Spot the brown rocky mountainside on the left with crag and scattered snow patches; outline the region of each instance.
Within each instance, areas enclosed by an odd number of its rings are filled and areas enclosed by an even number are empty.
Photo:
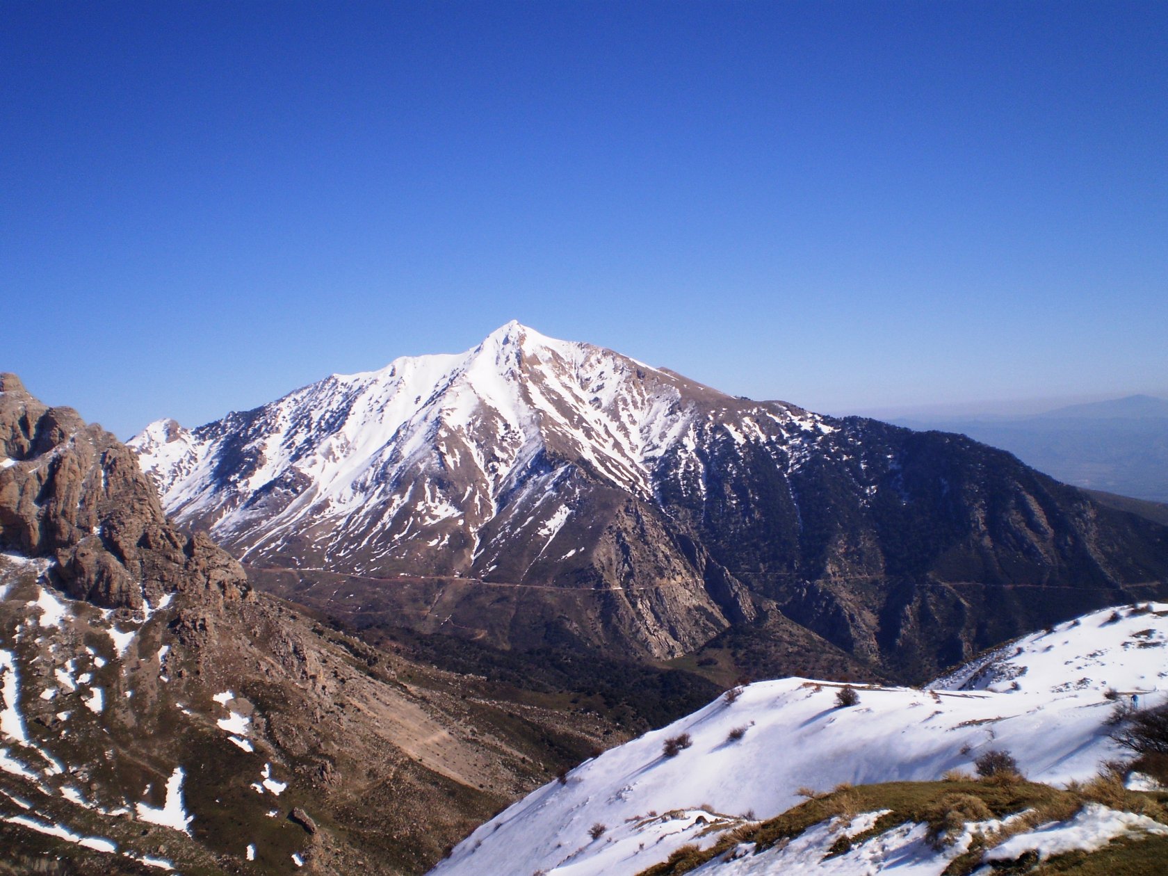
[[[0,378],[0,872],[418,872],[547,739],[624,738],[473,689],[251,590],[131,451]]]

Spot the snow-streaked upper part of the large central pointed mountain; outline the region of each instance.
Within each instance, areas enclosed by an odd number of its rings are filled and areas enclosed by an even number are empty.
[[[696,385],[512,321],[466,353],[334,374],[193,431],[160,420],[131,445],[168,512],[248,556],[308,529],[322,565],[360,554],[353,569],[370,571],[437,540],[464,548],[445,569],[460,572],[517,494],[544,506],[537,529],[563,521],[550,459],[651,499],[655,460],[696,416],[683,395]]]

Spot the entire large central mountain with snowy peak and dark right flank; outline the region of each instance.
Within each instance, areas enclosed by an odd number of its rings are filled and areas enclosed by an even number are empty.
[[[923,679],[1168,579],[1168,529],[1002,451],[517,324],[132,444],[260,585],[502,646],[668,658],[786,616]]]

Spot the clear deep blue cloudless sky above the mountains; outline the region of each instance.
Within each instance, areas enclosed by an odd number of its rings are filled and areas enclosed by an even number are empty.
[[[123,437],[509,319],[829,412],[1168,395],[1168,4],[0,5],[0,369]]]

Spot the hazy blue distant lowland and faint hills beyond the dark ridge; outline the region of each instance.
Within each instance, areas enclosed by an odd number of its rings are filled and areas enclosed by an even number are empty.
[[[902,417],[1008,450],[1078,487],[1168,502],[1168,401],[1136,395],[1026,417]]]

